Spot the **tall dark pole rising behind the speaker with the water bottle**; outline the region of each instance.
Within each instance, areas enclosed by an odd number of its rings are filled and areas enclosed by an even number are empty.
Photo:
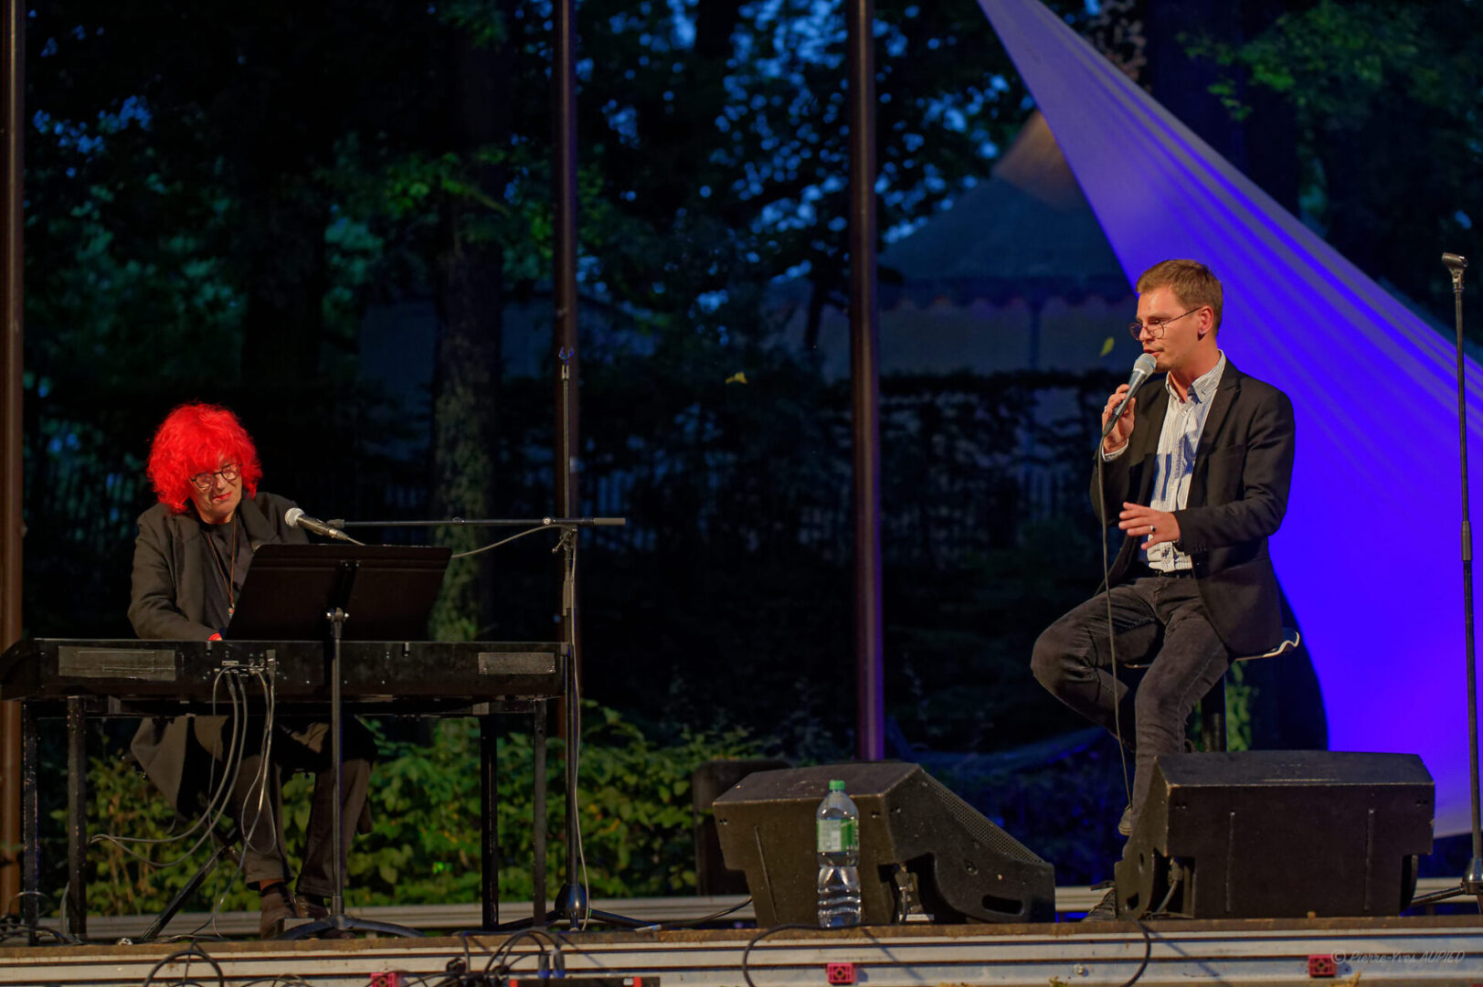
[[[875,300],[875,3],[850,0],[850,378],[854,407],[856,757],[885,755],[881,672],[881,381]]]

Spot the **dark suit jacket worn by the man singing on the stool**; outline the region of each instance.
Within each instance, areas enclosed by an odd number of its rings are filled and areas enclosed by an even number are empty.
[[[1137,390],[1129,448],[1103,465],[1105,506],[1091,505],[1111,527],[1123,502],[1146,505],[1154,491],[1154,459],[1169,407],[1164,378]],[[1283,614],[1266,539],[1287,511],[1295,426],[1292,402],[1277,387],[1247,377],[1229,359],[1195,448],[1189,499],[1179,521],[1176,548],[1194,561],[1210,623],[1232,655],[1261,655],[1281,640]],[[1108,576],[1124,582],[1146,537],[1123,542]]]

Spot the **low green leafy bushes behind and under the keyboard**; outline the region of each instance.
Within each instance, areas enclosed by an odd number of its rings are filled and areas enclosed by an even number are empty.
[[[581,842],[592,896],[679,895],[696,888],[690,776],[707,760],[753,757],[759,744],[739,730],[719,736],[684,733],[657,744],[612,709],[587,704],[580,766]],[[374,831],[350,855],[347,904],[449,904],[478,901],[479,724],[437,720],[427,744],[399,739],[371,723],[381,760],[372,772]],[[564,770],[561,741],[549,745],[547,898],[565,873],[562,839]],[[500,896],[529,899],[531,775],[534,751],[525,733],[498,741],[497,778]],[[162,839],[172,813],[128,754],[93,757],[89,770],[89,831]],[[289,861],[303,855],[310,779],[297,775],[283,787]],[[62,812],[52,818],[64,822]],[[176,831],[182,827],[176,824]],[[55,843],[55,842],[53,842]],[[184,846],[188,846],[185,842]],[[157,861],[184,846],[153,847]],[[135,847],[138,849],[138,847]],[[156,868],[110,842],[89,850],[87,902],[93,914],[157,911],[206,859],[206,849],[179,867]],[[56,855],[59,856],[59,855]],[[53,856],[55,858],[55,856]],[[219,902],[218,902],[219,899]],[[257,908],[257,893],[230,865],[218,867],[191,910]]]

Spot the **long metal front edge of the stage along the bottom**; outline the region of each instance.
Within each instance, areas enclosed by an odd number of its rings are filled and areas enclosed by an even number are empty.
[[[562,934],[565,975],[657,977],[663,986],[737,987],[756,929]],[[509,937],[469,937],[482,969]],[[196,956],[156,966],[185,944],[0,948],[0,984],[218,983]],[[466,954],[466,940],[200,942],[224,984],[248,981],[363,986],[400,971],[403,984],[437,984]],[[512,944],[513,974],[538,977],[541,944]],[[550,951],[550,947],[544,947]],[[1146,957],[1146,963],[1145,963]],[[1332,971],[1314,977],[1318,969]],[[1327,960],[1332,966],[1324,968]],[[1483,984],[1479,916],[1385,919],[1247,919],[1054,925],[906,925],[779,929],[761,940],[746,972],[756,987],[826,984],[828,963],[853,963],[851,983],[872,987],[1035,984]],[[292,978],[298,978],[297,981]],[[421,981],[417,978],[423,978]]]

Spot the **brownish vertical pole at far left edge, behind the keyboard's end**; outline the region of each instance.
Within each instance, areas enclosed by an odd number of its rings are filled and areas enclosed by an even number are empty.
[[[4,205],[0,220],[0,649],[21,638],[21,175],[25,132],[25,4],[4,0],[0,24]],[[0,702],[0,913],[21,892],[21,704]]]

